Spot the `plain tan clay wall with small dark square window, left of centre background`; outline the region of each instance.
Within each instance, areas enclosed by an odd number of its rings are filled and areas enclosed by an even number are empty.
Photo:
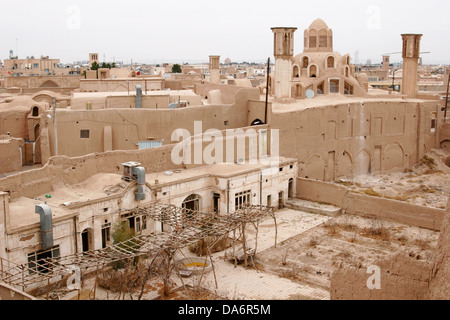
[[[202,122],[203,132],[207,129],[234,129],[246,127],[254,119],[248,118],[249,96],[251,92],[242,90],[236,95],[232,105],[192,106],[179,109],[107,109],[107,110],[57,110],[58,154],[80,156],[109,150],[136,150],[139,141],[159,140],[163,145],[172,143],[172,133],[176,129],[186,129],[194,134],[194,122]],[[264,113],[264,105],[252,103],[251,114]],[[260,110],[260,111],[258,111]],[[47,137],[41,137],[54,155],[53,120],[43,117],[41,128],[48,128]],[[105,136],[105,128],[111,128],[111,135]],[[89,137],[82,137],[81,130],[89,130]],[[109,129],[108,129],[109,130]],[[85,131],[86,132],[86,131]],[[41,133],[42,134],[42,133]],[[106,141],[107,140],[107,141]],[[106,143],[108,142],[108,143]]]

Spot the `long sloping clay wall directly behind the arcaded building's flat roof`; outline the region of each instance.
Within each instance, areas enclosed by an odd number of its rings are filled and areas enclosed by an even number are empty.
[[[248,136],[246,136],[250,129],[254,132],[256,138],[252,147],[250,146]],[[243,127],[238,130],[235,135],[232,135],[231,138],[227,138],[226,130],[218,131],[217,133],[220,133],[220,135],[224,137],[224,140],[218,139],[218,142],[220,142],[219,147],[214,144],[213,149],[215,152],[219,152],[219,149],[223,148],[223,161],[227,161],[230,159],[226,154],[226,151],[228,151],[227,141],[231,141],[234,151],[232,158],[233,162],[240,157],[245,160],[254,158],[255,155],[259,154],[260,148],[258,130],[267,130],[267,134],[270,137],[270,130],[268,130],[267,125]],[[186,148],[189,150],[186,153],[184,153],[184,151],[181,152],[180,150],[183,148],[180,148],[180,145],[175,143],[158,148],[90,153],[88,155],[71,158],[67,156],[50,157],[48,162],[42,168],[27,170],[0,179],[0,191],[9,192],[12,199],[19,197],[34,198],[53,191],[61,184],[77,184],[97,173],[121,173],[122,168],[120,164],[128,161],[141,163],[148,173],[207,165],[209,164],[207,163],[208,159],[204,155],[209,155],[211,153],[210,149],[212,143],[211,139],[207,139],[208,136],[209,135],[206,133],[197,136],[200,137],[200,141],[202,141],[200,143],[200,150],[196,150],[197,142],[195,139],[186,139],[186,146],[190,144],[190,147]],[[243,152],[239,153],[237,151],[237,141],[239,141],[241,137],[244,137],[246,140],[242,149]],[[177,146],[177,150],[174,150]],[[174,162],[174,159],[172,158],[173,150],[175,157],[182,159],[182,163]],[[197,152],[199,152],[197,157],[197,159],[200,159],[199,163],[196,163],[195,161]]]

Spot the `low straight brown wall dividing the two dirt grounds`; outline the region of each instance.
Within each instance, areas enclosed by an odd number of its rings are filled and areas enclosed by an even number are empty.
[[[304,178],[297,178],[296,191],[297,197],[301,199],[329,203],[349,214],[385,219],[430,230],[439,231],[445,213],[442,209],[353,193],[343,186]]]

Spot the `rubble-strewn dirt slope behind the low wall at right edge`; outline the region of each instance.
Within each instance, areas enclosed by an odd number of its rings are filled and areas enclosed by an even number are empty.
[[[404,172],[340,179],[352,192],[445,209],[450,195],[450,153],[435,150]]]

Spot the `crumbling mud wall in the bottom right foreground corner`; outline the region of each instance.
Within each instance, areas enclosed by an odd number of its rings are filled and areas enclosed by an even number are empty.
[[[365,267],[340,266],[331,276],[332,300],[448,300],[450,297],[450,200],[431,260],[411,252],[375,262],[380,287],[369,289]]]

